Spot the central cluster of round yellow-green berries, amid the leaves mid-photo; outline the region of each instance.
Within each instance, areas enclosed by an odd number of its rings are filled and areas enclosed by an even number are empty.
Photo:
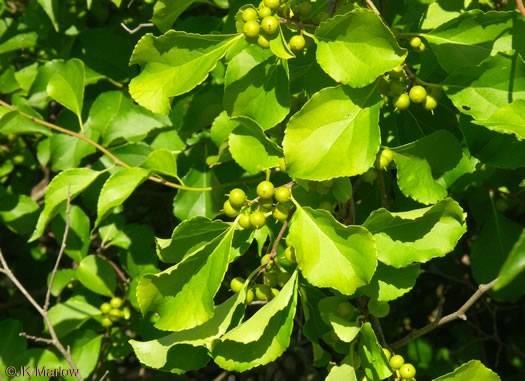
[[[273,216],[277,221],[284,221],[288,218],[289,207],[288,201],[291,198],[289,188],[275,186],[270,181],[261,181],[257,185],[257,195],[259,196],[259,207],[257,210],[244,211],[248,207],[248,198],[246,193],[240,189],[233,189],[229,195],[228,200],[224,202],[223,211],[228,217],[237,217],[239,214],[239,225],[244,229],[254,228],[260,229],[266,224],[266,217]],[[277,204],[274,204],[274,199]]]

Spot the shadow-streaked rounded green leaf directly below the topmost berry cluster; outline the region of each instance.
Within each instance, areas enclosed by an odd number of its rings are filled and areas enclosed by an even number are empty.
[[[286,61],[249,45],[228,63],[224,108],[230,116],[248,117],[267,130],[290,112],[288,82]]]

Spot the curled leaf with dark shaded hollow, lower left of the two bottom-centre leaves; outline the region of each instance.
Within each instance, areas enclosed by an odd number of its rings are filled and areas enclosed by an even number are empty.
[[[213,317],[201,326],[150,341],[130,340],[130,344],[139,361],[151,368],[178,374],[201,368],[209,361],[206,348],[211,342],[226,333],[230,325],[239,323],[245,299],[243,289],[215,307]]]

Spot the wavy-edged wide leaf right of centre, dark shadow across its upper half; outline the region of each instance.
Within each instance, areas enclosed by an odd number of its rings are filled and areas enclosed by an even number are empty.
[[[363,226],[374,235],[377,258],[395,268],[445,256],[467,231],[465,213],[452,199],[407,212],[381,208]]]

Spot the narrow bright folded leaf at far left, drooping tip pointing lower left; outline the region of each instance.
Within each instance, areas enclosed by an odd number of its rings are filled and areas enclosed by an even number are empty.
[[[45,206],[35,231],[29,239],[32,242],[44,234],[44,229],[49,221],[65,206],[67,201],[68,189],[70,199],[73,200],[84,189],[86,189],[102,172],[97,172],[89,168],[73,168],[64,171],[51,180],[45,196]]]

